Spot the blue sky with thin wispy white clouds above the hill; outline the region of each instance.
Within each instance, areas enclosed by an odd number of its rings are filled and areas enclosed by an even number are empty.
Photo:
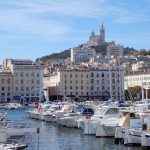
[[[76,47],[102,21],[106,42],[150,49],[150,0],[0,0],[0,64]]]

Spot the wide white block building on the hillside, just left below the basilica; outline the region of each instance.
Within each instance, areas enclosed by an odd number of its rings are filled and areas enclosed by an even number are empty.
[[[88,62],[92,57],[96,56],[96,51],[93,48],[72,48],[71,61],[72,62]]]

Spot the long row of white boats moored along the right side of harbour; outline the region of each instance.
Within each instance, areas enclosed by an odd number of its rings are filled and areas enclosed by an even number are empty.
[[[118,107],[115,102],[45,102],[27,111],[28,116],[81,128],[85,135],[114,137],[116,144],[150,148],[149,100]]]

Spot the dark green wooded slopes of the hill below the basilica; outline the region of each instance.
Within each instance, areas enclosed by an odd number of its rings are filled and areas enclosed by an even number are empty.
[[[79,47],[82,47],[83,45],[79,45]],[[107,48],[107,44],[103,45],[103,46],[91,46],[91,48],[94,48],[96,50],[96,53],[100,53],[102,55],[106,55],[106,48]],[[53,54],[50,54],[50,55],[46,55],[46,56],[43,56],[41,58],[37,58],[36,59],[36,62],[37,61],[47,61],[49,59],[66,59],[66,58],[69,58],[71,57],[71,54],[70,54],[70,50],[71,48],[67,49],[67,50],[64,50],[60,53],[53,53]],[[130,54],[133,54],[135,52],[138,52],[136,49],[134,48],[129,48],[129,47],[125,47],[124,48],[124,54],[125,55],[130,55]]]

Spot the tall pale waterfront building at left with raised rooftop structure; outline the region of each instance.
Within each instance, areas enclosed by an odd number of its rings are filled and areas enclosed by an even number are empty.
[[[38,100],[43,89],[43,66],[32,60],[6,59],[4,67],[12,73],[13,99]]]

